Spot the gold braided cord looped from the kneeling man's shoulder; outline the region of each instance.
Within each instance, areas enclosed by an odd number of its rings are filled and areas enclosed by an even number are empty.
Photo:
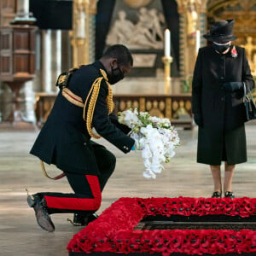
[[[92,125],[91,124],[92,124],[94,110],[95,110],[95,107],[96,107],[96,100],[98,98],[100,88],[101,88],[102,79],[105,79],[106,83],[108,84],[108,96],[107,96],[107,99],[106,99],[107,107],[108,107],[108,113],[113,112],[113,92],[112,92],[112,88],[111,88],[111,85],[108,83],[108,77],[107,77],[107,74],[105,73],[105,71],[102,70],[102,69],[100,69],[100,71],[102,73],[102,77],[97,78],[94,81],[94,83],[91,85],[89,94],[88,94],[88,96],[86,98],[86,101],[84,103],[84,113],[83,113],[84,121],[86,121],[87,131],[88,131],[90,137],[94,137],[96,139],[99,139],[101,136],[96,135],[92,131],[92,128],[91,128]],[[87,106],[87,104],[88,104],[88,109],[87,109],[87,115],[86,115],[86,106]]]

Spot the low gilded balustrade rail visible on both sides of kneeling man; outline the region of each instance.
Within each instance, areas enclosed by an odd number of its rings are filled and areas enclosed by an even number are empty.
[[[192,112],[190,97],[189,94],[176,96],[115,95],[113,96],[115,105],[114,113],[119,113],[119,111],[124,111],[129,108],[138,108],[139,111],[149,111],[152,115],[166,117],[171,119],[172,122],[175,121],[175,125],[177,126],[191,129],[193,123],[191,119]],[[55,95],[45,93],[37,94],[36,116],[39,127],[44,125],[54,102]],[[174,104],[172,104],[172,102]],[[148,109],[146,109],[147,105]]]

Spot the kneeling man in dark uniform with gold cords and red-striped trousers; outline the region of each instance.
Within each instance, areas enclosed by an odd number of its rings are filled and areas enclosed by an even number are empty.
[[[61,74],[60,92],[54,107],[34,143],[31,154],[54,164],[66,175],[74,194],[41,192],[29,195],[38,224],[52,232],[49,214],[74,212],[74,222],[87,224],[101,206],[102,189],[115,167],[115,156],[91,137],[103,137],[124,153],[134,140],[130,129],[113,115],[110,84],[124,79],[133,65],[130,51],[121,44],[111,46],[99,61]]]

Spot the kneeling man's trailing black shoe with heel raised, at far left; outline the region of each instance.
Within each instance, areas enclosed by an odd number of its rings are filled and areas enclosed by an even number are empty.
[[[45,199],[41,199],[39,195],[28,195],[26,201],[30,207],[34,208],[38,225],[48,232],[55,230],[55,225],[49,217]]]

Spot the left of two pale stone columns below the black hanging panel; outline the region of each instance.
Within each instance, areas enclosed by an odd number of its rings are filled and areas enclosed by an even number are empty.
[[[51,31],[42,31],[42,90],[44,92],[52,92],[52,79],[51,79]]]

